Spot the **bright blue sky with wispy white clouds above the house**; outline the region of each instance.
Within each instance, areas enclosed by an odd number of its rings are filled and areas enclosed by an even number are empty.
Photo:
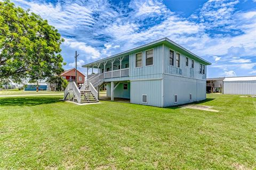
[[[207,78],[256,75],[256,0],[12,0],[59,30],[64,69],[167,37],[212,63]]]

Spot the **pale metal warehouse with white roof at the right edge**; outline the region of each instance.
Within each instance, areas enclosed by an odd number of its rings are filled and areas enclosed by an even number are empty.
[[[256,95],[256,76],[225,78],[223,94]]]

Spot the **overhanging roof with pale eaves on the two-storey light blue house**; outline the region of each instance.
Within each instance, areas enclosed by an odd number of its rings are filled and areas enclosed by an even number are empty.
[[[179,50],[181,50],[183,53],[185,53],[186,55],[190,56],[191,58],[194,58],[195,60],[198,60],[200,61],[201,63],[205,64],[205,65],[211,65],[210,62],[204,60],[203,58],[197,56],[196,54],[190,52],[189,50],[187,50],[186,48],[178,45],[177,43],[175,43],[174,41],[170,40],[169,38],[162,38],[162,39],[159,39],[159,40],[156,40],[156,41],[153,41],[151,43],[148,43],[148,44],[145,44],[145,45],[142,45],[142,46],[139,46],[139,47],[136,47],[136,48],[132,48],[130,50],[126,50],[125,52],[122,52],[122,53],[118,53],[118,54],[115,54],[115,55],[112,55],[112,56],[109,56],[109,57],[106,57],[106,58],[102,58],[101,60],[98,60],[98,61],[95,61],[95,62],[92,62],[92,63],[89,63],[89,64],[85,64],[83,65],[83,67],[91,67],[93,64],[97,64],[97,63],[101,63],[101,62],[104,62],[104,61],[108,61],[110,60],[111,58],[115,58],[115,57],[118,57],[118,56],[125,56],[125,55],[129,55],[130,53],[133,53],[133,52],[136,52],[137,50],[141,50],[143,48],[149,48],[151,46],[155,46],[155,45],[158,45],[158,44],[166,44],[166,45],[170,45],[170,46],[175,46],[177,47]],[[94,66],[93,66],[94,67]]]

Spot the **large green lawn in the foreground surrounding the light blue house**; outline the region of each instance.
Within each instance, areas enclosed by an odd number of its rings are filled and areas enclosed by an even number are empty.
[[[256,168],[256,98],[207,95],[217,113],[61,97],[0,98],[0,169]]]

